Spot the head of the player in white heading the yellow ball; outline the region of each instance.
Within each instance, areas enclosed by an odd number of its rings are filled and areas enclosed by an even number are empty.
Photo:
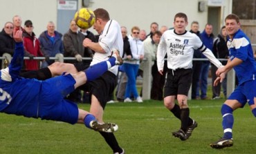
[[[104,26],[107,21],[109,21],[109,12],[104,10],[103,8],[97,8],[93,11],[95,15],[95,23],[93,24],[93,28],[100,34],[104,30]]]

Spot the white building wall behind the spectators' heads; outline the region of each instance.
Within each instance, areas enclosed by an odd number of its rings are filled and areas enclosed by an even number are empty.
[[[78,8],[82,7],[82,0],[78,1]],[[190,30],[191,21],[199,21],[200,30],[207,23],[207,6],[204,12],[198,11],[199,0],[90,0],[89,8],[105,8],[109,11],[111,19],[115,19],[121,26],[127,26],[130,31],[132,26],[139,26],[149,33],[150,23],[156,21],[159,27],[173,26],[174,15],[184,12],[188,15]],[[205,1],[206,4],[208,1]],[[221,13],[226,17],[232,9],[232,0],[223,0]],[[39,34],[46,30],[48,21],[57,22],[57,0],[1,0],[0,1],[0,28],[6,21],[12,21],[14,15],[20,15],[24,21],[30,19],[35,26],[34,32]],[[223,22],[223,21],[221,21]],[[56,23],[57,24],[57,23]],[[94,33],[95,31],[92,30]]]

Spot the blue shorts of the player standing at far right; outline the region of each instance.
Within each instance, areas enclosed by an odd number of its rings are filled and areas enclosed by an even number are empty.
[[[242,104],[242,107],[248,102],[249,106],[254,104],[256,97],[256,80],[246,81],[245,83],[237,86],[234,92],[231,93],[228,99],[235,99]]]

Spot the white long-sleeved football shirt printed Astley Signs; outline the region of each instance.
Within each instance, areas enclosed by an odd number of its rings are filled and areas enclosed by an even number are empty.
[[[194,33],[185,31],[179,35],[172,30],[166,30],[158,44],[156,53],[158,70],[163,70],[164,58],[167,54],[167,68],[176,70],[179,68],[192,68],[194,50],[199,49],[203,55],[219,68],[221,62],[217,60],[212,51],[206,48],[201,39]]]

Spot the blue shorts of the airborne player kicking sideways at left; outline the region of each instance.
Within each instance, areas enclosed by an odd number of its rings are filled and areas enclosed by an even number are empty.
[[[42,81],[39,93],[39,117],[70,124],[77,123],[77,104],[64,99],[74,90],[74,84],[75,79],[71,75],[62,75]]]

